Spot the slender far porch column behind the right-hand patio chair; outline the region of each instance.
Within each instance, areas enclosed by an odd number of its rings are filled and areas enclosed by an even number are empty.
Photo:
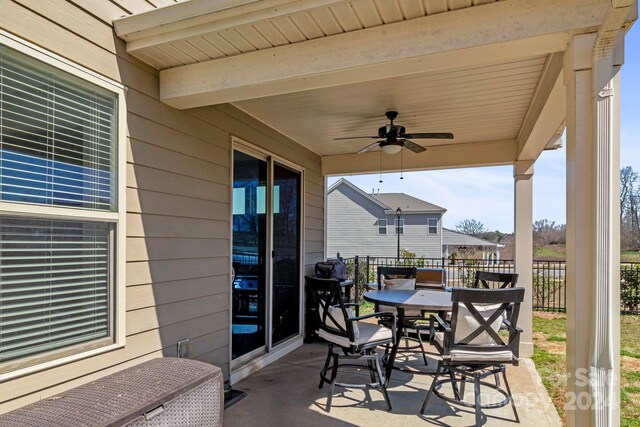
[[[525,288],[518,325],[520,356],[533,356],[533,160],[518,160],[513,165],[514,189],[514,261],[518,286]]]

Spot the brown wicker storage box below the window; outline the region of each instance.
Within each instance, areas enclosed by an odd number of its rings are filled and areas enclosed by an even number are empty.
[[[0,415],[0,426],[221,426],[222,371],[160,358]]]

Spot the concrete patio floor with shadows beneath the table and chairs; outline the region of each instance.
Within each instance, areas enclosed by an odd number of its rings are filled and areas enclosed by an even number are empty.
[[[336,388],[331,412],[325,404],[328,387],[318,389],[319,371],[326,357],[326,344],[305,344],[279,361],[233,384],[247,396],[225,411],[224,425],[234,426],[467,426],[474,424],[472,408],[450,405],[433,396],[424,416],[420,407],[433,379],[432,375],[394,371],[388,388],[393,410],[388,412],[377,390]],[[415,353],[399,355],[401,363],[434,372],[437,356],[431,354],[425,367]],[[349,372],[342,377],[366,375]],[[544,427],[561,425],[560,418],[542,385],[533,362],[525,359],[518,367],[507,369],[507,378],[514,395],[520,425]],[[340,377],[339,377],[340,380]],[[491,381],[491,380],[489,380]],[[355,382],[355,381],[354,381]],[[468,386],[466,400],[473,399],[473,387]],[[483,388],[483,396],[491,397]],[[483,424],[513,426],[511,406],[483,411]]]

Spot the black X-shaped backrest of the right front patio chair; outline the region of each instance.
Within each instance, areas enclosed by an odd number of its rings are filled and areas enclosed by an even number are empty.
[[[520,304],[524,300],[524,288],[511,289],[469,289],[453,288],[451,291],[451,301],[453,309],[451,312],[451,332],[450,336],[445,336],[443,340],[444,352],[448,354],[452,350],[465,350],[477,352],[496,352],[510,350],[516,358],[519,354],[520,334],[518,332],[518,316],[520,314]],[[459,313],[461,306],[466,308],[468,314],[477,322],[478,326],[470,333],[461,336]],[[489,310],[487,310],[489,306]],[[480,314],[478,309],[489,311],[486,317]],[[467,314],[467,313],[465,313]],[[509,339],[505,343],[498,334],[499,328],[492,327],[492,324],[500,319],[500,325],[507,325]],[[488,334],[491,343],[471,344],[476,338],[483,334]],[[486,335],[485,335],[486,336]]]

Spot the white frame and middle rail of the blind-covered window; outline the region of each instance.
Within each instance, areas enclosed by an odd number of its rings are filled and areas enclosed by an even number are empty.
[[[113,252],[110,255],[113,262],[113,279],[110,283],[112,302],[109,306],[109,315],[112,316],[112,319],[110,319],[110,336],[1,363],[0,382],[3,382],[92,357],[97,354],[113,351],[125,345],[127,104],[125,96],[126,87],[121,83],[106,78],[88,68],[49,52],[26,40],[22,40],[1,29],[0,44],[27,55],[34,60],[43,62],[60,71],[62,74],[70,74],[86,83],[106,89],[116,96],[116,141],[114,153],[114,165],[116,167],[114,176],[116,184],[114,188],[117,191],[115,211],[96,211],[75,207],[37,205],[0,200],[0,216],[97,221],[112,224],[112,227],[115,228],[115,231],[112,232]]]

